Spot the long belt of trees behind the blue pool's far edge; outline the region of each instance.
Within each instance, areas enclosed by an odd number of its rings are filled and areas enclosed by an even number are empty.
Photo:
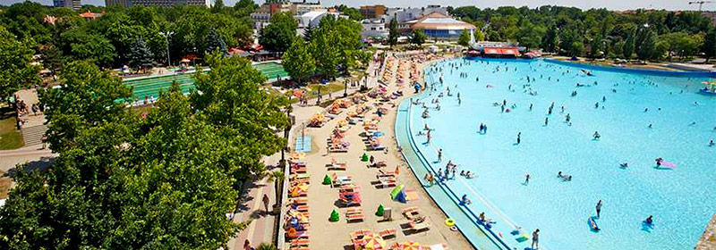
[[[447,11],[473,23],[487,40],[519,42],[547,52],[641,60],[716,55],[716,31],[699,12],[582,11],[559,6],[482,10],[465,6]]]

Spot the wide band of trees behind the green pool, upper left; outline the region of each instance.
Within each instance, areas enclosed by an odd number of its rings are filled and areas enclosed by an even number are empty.
[[[201,56],[210,52],[210,44],[250,44],[249,14],[256,7],[251,0],[239,1],[234,7],[219,1],[211,9],[188,5],[87,7],[104,11],[105,15],[97,20],[84,20],[79,16],[84,9],[72,11],[24,2],[3,7],[0,26],[17,39],[32,41],[32,48],[43,55],[44,66],[53,71],[74,60],[90,60],[104,68],[132,63],[136,68],[141,66],[136,62],[147,63],[147,59],[166,63],[167,42],[175,62],[186,54]],[[46,21],[46,16],[55,17],[54,24]],[[218,36],[210,36],[211,32]],[[136,50],[151,54],[136,58]]]

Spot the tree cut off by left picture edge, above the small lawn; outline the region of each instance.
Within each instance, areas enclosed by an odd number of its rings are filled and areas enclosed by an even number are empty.
[[[0,101],[21,87],[39,83],[39,68],[30,64],[35,54],[30,45],[0,26]]]

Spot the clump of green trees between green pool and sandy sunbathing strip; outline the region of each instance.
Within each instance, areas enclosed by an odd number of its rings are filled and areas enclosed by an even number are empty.
[[[271,17],[271,24],[266,29],[274,25],[276,28],[271,29],[289,26],[283,23],[290,22],[287,18],[274,22],[276,16],[280,14]],[[314,74],[334,79],[341,73],[348,74],[348,69],[357,66],[357,63],[367,65],[371,60],[371,52],[359,49],[362,46],[361,30],[361,25],[356,21],[327,15],[317,27],[307,29],[303,38],[292,33],[293,36],[286,41],[289,47],[282,58],[286,72],[293,79],[303,82]],[[267,39],[267,33],[262,35],[261,39]]]

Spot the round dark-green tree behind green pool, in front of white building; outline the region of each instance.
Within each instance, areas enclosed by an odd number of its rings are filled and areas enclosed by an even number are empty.
[[[261,29],[259,43],[269,50],[285,52],[296,37],[298,23],[290,12],[276,12],[271,15],[271,23]]]

